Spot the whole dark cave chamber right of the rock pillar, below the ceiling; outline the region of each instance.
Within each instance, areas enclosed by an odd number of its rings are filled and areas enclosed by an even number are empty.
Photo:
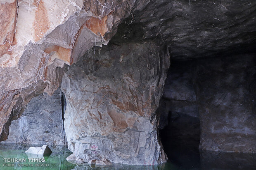
[[[234,166],[228,169],[237,169],[236,163],[255,166],[252,158],[239,160],[246,154],[221,156],[254,153],[255,59],[247,53],[171,62],[158,109],[169,161],[185,169],[229,161]],[[218,156],[225,161],[217,163]]]

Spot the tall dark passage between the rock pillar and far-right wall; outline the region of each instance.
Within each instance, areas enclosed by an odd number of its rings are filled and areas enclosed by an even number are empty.
[[[193,74],[187,68],[184,62],[171,62],[159,104],[159,133],[171,163],[183,168],[199,168],[200,120]]]

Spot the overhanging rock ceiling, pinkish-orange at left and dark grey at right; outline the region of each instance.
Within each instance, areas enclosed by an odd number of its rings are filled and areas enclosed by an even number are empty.
[[[13,114],[21,115],[34,96],[52,95],[67,65],[106,45],[128,16],[119,41],[159,39],[175,60],[255,47],[256,1],[189,2],[0,0],[0,140],[7,139]]]

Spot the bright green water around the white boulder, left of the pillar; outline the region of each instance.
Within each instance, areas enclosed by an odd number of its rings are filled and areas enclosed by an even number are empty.
[[[33,146],[36,147],[40,145]],[[45,162],[31,162],[33,161],[31,158],[36,158],[36,156],[27,155],[25,153],[29,147],[31,146],[0,144],[0,170],[71,170],[76,166],[66,161],[66,157],[71,154],[67,148],[62,146],[49,146],[52,150],[52,154],[42,157],[45,159]],[[7,162],[6,158],[20,158],[21,161],[25,159],[26,162]]]

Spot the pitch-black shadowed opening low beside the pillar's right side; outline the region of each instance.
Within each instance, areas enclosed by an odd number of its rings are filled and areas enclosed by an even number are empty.
[[[168,125],[160,130],[161,142],[169,161],[180,168],[199,168],[199,119],[189,115],[168,116]]]

